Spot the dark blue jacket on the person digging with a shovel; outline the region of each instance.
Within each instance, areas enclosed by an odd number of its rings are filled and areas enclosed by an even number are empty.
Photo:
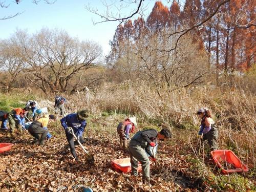
[[[69,126],[73,128],[74,134],[81,137],[86,127],[86,120],[78,120],[77,114],[72,113],[60,119],[61,125],[66,130]]]

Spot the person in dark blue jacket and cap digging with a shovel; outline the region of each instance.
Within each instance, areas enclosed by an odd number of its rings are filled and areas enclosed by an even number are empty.
[[[66,137],[69,142],[70,151],[73,157],[78,161],[78,157],[75,151],[75,145],[78,144],[77,141],[74,141],[74,136],[72,134],[72,130],[77,137],[77,140],[80,143],[84,143],[82,138],[82,134],[84,128],[87,125],[86,118],[88,117],[88,110],[80,110],[77,113],[72,113],[60,119],[62,127],[65,129]]]

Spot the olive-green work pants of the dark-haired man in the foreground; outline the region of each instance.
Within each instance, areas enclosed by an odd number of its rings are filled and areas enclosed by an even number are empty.
[[[132,139],[129,144],[131,164],[132,164],[132,175],[138,175],[138,161],[142,165],[142,180],[150,180],[150,159],[148,159],[145,149],[138,143],[138,141]]]

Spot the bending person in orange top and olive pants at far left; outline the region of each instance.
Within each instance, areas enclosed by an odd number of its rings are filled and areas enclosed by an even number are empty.
[[[25,129],[25,116],[27,115],[29,108],[16,108],[8,113],[8,121],[10,125],[10,134],[14,135],[14,128],[18,129],[19,134],[22,134],[23,128]]]

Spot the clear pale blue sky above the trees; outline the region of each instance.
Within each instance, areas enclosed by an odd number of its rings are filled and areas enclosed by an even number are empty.
[[[119,0],[118,0],[119,1]],[[3,1],[1,1],[3,2]],[[48,5],[41,0],[38,5],[31,3],[31,0],[23,0],[19,5],[14,0],[6,0],[10,4],[6,8],[0,8],[0,18],[17,12],[22,14],[7,20],[0,20],[0,38],[8,38],[16,29],[27,29],[29,33],[39,31],[43,27],[59,28],[66,30],[71,36],[81,40],[93,40],[102,46],[103,53],[110,51],[109,41],[113,38],[118,22],[106,22],[93,25],[93,20],[100,20],[100,17],[90,13],[85,7],[98,9],[103,13],[106,8],[102,1],[85,0],[57,0],[53,5]],[[111,4],[110,0],[106,0]],[[154,7],[155,1],[145,1],[144,13],[147,15]],[[163,1],[166,5],[166,2]],[[118,6],[115,4],[114,6]],[[128,7],[123,13],[129,14],[135,7]],[[112,9],[115,11],[114,7]],[[136,15],[137,18],[139,15]]]

